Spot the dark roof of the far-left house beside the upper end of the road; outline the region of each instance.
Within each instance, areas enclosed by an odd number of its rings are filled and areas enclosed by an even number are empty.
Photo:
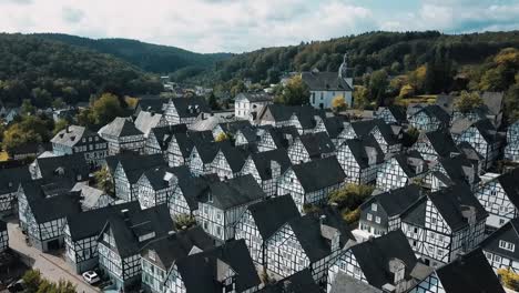
[[[67,192],[60,195],[29,201],[32,215],[39,224],[65,218],[81,212],[79,192]]]

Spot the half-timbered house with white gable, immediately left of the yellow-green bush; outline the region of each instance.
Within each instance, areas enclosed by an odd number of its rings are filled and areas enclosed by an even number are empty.
[[[314,160],[288,168],[279,178],[277,194],[291,194],[301,213],[307,204],[322,204],[328,194],[345,184],[346,175],[337,158]]]

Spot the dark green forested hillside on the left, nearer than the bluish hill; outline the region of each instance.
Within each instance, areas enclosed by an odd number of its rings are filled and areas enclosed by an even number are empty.
[[[91,94],[156,93],[157,78],[115,57],[31,36],[0,34],[0,99],[30,99],[48,107],[55,98],[89,101]]]

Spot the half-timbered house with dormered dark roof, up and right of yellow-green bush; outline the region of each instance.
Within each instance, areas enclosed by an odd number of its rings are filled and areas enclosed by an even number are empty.
[[[376,186],[381,191],[403,188],[423,180],[427,171],[427,163],[417,151],[398,153],[378,168]]]

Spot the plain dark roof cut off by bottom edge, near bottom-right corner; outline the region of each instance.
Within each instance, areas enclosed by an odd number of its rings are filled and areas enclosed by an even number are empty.
[[[447,293],[505,293],[480,249],[436,270]]]

